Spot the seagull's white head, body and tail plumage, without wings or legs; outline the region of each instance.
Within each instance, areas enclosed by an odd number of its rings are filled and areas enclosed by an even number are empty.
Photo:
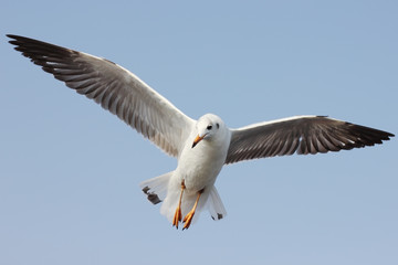
[[[196,131],[198,131],[198,128],[207,128],[210,124],[213,129],[218,130],[217,136],[211,137],[210,140],[201,141],[200,145],[192,148],[191,139],[197,137],[198,134]],[[221,118],[212,114],[202,116],[196,126],[197,128],[191,130],[192,134],[188,136],[187,142],[184,145],[184,149],[177,158],[178,163],[176,170],[166,176],[160,176],[160,183],[167,183],[168,191],[167,197],[159,198],[159,200],[164,200],[160,212],[166,215],[170,222],[174,218],[174,210],[178,204],[182,182],[185,184],[181,205],[182,215],[186,215],[188,210],[193,206],[199,191],[203,192],[197,212],[200,212],[199,210],[206,205],[208,197],[213,194],[211,200],[213,203],[209,203],[209,206],[214,209],[212,218],[214,220],[221,219],[227,214],[218,197],[214,182],[226,162],[231,131],[226,127]],[[202,135],[205,134],[206,131],[202,132]],[[165,178],[169,178],[169,180],[165,181]],[[147,192],[158,194],[158,190],[153,188],[158,187],[159,182],[156,180],[157,178],[143,182],[143,189],[149,188]],[[153,181],[155,181],[155,183]],[[165,189],[165,187],[160,186],[158,189]],[[214,194],[217,195],[214,197]],[[198,218],[198,215],[196,218]]]

